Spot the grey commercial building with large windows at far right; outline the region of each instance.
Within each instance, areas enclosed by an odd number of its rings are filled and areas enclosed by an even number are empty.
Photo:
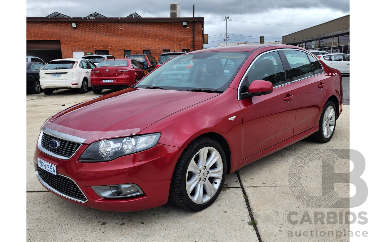
[[[350,54],[350,15],[282,36],[282,44]]]

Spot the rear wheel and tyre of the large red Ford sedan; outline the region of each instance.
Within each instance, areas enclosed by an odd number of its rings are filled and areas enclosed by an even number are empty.
[[[332,101],[327,101],[321,113],[319,129],[310,136],[311,140],[326,143],[333,137],[337,123],[337,109]]]

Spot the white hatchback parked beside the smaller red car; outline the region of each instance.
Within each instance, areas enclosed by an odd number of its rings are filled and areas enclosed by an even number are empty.
[[[59,89],[79,89],[88,92],[91,69],[97,66],[86,59],[52,60],[39,71],[39,82],[44,94]]]

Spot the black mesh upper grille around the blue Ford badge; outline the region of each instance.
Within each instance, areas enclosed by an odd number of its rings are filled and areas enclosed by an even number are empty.
[[[58,147],[58,149],[52,149],[50,147],[49,143],[52,139],[59,141],[60,146]],[[74,143],[71,141],[63,140],[61,138],[56,138],[46,133],[43,133],[42,135],[41,145],[43,146],[44,149],[56,155],[60,155],[60,156],[68,157],[68,158],[71,157],[74,154],[74,152],[76,152],[76,150],[80,147],[79,143]]]

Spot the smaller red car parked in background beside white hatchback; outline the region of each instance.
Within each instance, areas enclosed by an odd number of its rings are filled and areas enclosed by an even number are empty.
[[[103,60],[91,70],[91,90],[98,94],[103,89],[124,89],[137,83],[149,72],[133,59]]]

